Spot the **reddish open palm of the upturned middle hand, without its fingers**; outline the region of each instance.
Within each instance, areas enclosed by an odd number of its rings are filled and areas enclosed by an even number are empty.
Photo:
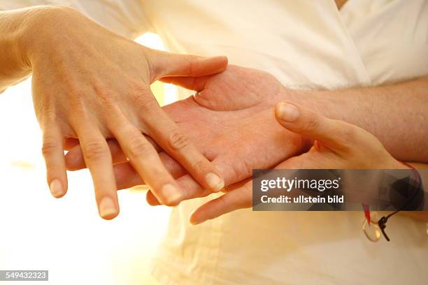
[[[269,168],[299,150],[300,138],[281,128],[272,107],[283,86],[268,73],[229,66],[208,78],[195,97],[164,107],[197,147],[220,162],[227,183]]]

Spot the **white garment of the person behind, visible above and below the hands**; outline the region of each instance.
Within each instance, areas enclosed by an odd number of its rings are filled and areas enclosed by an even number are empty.
[[[0,8],[40,2],[0,0]],[[428,73],[423,0],[349,0],[340,12],[332,0],[64,2],[125,36],[154,31],[173,52],[224,54],[294,88],[378,85]],[[240,210],[191,226],[190,212],[206,200],[173,210],[154,262],[162,284],[427,283],[425,224],[394,217],[392,242],[377,244],[362,233],[362,212]]]

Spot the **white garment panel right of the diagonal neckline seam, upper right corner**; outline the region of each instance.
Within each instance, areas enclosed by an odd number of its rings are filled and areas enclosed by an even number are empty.
[[[427,1],[349,1],[341,15],[373,83],[427,75]]]

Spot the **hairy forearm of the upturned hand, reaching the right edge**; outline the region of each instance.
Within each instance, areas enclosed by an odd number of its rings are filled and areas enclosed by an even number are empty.
[[[428,162],[428,78],[393,85],[298,92],[326,117],[373,133],[396,159]]]

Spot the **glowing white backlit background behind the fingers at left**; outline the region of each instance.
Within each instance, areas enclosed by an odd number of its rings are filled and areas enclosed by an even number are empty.
[[[164,50],[155,34],[136,41]],[[156,82],[152,89],[162,105],[177,98],[171,85]],[[0,95],[0,130],[0,270],[49,270],[50,281],[40,285],[156,284],[148,263],[166,230],[168,208],[148,206],[143,189],[124,190],[119,217],[104,221],[87,170],[69,173],[66,196],[52,198],[31,79]]]

